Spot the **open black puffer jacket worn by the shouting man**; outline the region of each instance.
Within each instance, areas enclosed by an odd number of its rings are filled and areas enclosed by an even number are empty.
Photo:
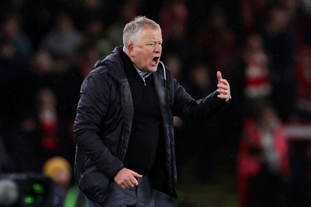
[[[75,179],[80,190],[102,204],[110,182],[123,167],[133,120],[133,101],[121,58],[122,47],[100,59],[81,86],[74,125],[77,143]],[[194,100],[161,65],[154,77],[162,114],[163,156],[154,173],[154,188],[176,197],[173,116],[201,121],[227,103],[216,92]]]

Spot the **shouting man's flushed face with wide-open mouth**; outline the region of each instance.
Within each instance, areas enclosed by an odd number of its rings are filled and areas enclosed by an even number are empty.
[[[162,35],[159,30],[145,27],[133,43],[131,60],[142,72],[155,72],[162,52]]]

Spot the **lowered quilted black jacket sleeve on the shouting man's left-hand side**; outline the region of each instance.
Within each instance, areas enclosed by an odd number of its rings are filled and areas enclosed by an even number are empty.
[[[122,162],[113,156],[99,137],[100,126],[109,108],[110,86],[107,73],[90,73],[81,85],[74,124],[74,139],[95,166],[113,179]]]

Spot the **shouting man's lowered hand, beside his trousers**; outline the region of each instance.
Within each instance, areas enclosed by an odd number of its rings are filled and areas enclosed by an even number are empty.
[[[138,181],[135,177],[143,177],[143,175],[135,173],[127,168],[120,170],[114,180],[122,189],[129,189],[138,185]]]

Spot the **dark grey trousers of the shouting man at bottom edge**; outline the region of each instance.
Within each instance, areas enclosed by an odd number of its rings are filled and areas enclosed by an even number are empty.
[[[154,207],[153,189],[148,176],[137,178],[138,186],[122,189],[115,182],[111,182],[104,205],[87,198],[89,207]]]

